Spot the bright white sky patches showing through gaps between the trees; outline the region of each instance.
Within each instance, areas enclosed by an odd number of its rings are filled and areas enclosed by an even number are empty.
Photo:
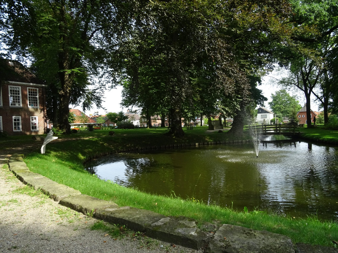
[[[258,86],[258,89],[262,90],[263,95],[268,99],[268,101],[265,102],[265,108],[270,110],[269,104],[268,102],[271,102],[271,94],[274,94],[277,90],[282,89],[282,87],[276,85],[276,84],[272,84],[271,80],[274,80],[275,78],[279,78],[279,73],[277,72],[272,72],[271,74],[265,76],[262,78],[262,85]],[[122,87],[121,86],[117,86],[115,89],[112,90],[106,90],[105,94],[104,94],[104,98],[103,98],[103,102],[102,102],[102,106],[106,109],[97,109],[95,106],[90,109],[87,110],[85,112],[86,115],[90,115],[90,114],[94,114],[94,112],[98,112],[99,115],[104,115],[107,112],[127,112],[128,108],[122,108],[122,106],[120,105],[121,103],[121,93],[122,93]],[[296,99],[299,101],[299,104],[303,107],[305,104],[305,97],[304,97],[304,93],[302,91],[290,91],[289,92],[290,95],[292,96],[296,96]],[[312,98],[314,96],[312,95]],[[78,109],[80,111],[82,111],[81,106],[77,106],[77,107],[73,107],[72,109]],[[314,100],[311,102],[311,109],[313,111],[318,111],[318,106],[317,103],[314,102]]]

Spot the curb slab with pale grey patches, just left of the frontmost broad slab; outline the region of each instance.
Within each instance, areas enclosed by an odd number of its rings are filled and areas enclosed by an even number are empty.
[[[211,234],[207,234],[197,228],[194,219],[183,216],[165,217],[151,224],[146,234],[168,243],[174,243],[196,250],[205,248],[211,239]]]

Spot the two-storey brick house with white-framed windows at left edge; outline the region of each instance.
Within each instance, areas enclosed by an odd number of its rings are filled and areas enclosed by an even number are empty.
[[[0,131],[45,134],[46,87],[18,61],[0,58]]]

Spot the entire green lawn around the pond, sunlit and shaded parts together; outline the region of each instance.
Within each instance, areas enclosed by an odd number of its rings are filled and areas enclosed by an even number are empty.
[[[114,129],[82,131],[69,136],[59,136],[46,146],[46,154],[40,154],[41,145],[30,148],[24,161],[33,172],[42,174],[53,181],[78,189],[83,194],[110,200],[119,206],[144,208],[164,215],[184,215],[196,219],[200,224],[234,224],[257,230],[267,230],[289,236],[294,243],[309,243],[334,246],[332,241],[338,239],[337,222],[318,221],[316,217],[300,219],[268,214],[262,211],[239,212],[231,208],[220,208],[196,202],[194,199],[181,199],[174,195],[158,196],[147,194],[137,189],[125,188],[109,181],[102,181],[89,174],[83,168],[83,161],[88,157],[107,152],[115,152],[128,148],[145,146],[161,146],[171,144],[188,144],[232,141],[233,136],[223,132],[207,131],[206,127],[185,130],[183,138],[165,136],[166,129]],[[338,132],[315,129],[301,129],[306,138],[335,141],[338,143]],[[326,133],[326,134],[325,134]],[[249,139],[245,134],[243,139]],[[0,139],[0,152],[10,143],[32,143],[31,136],[7,137]]]

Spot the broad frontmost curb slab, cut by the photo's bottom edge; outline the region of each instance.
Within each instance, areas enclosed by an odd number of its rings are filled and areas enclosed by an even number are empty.
[[[295,253],[289,237],[267,231],[223,224],[206,253]]]

